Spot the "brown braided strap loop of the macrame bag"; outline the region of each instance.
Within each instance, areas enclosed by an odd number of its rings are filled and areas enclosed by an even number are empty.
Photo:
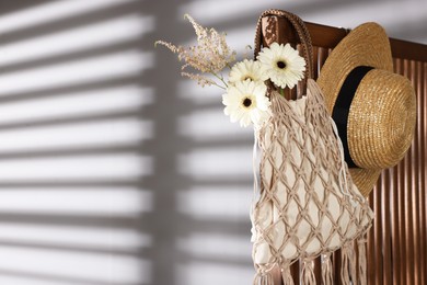
[[[311,44],[311,37],[310,32],[307,29],[304,22],[296,14],[292,14],[290,12],[278,10],[278,9],[270,9],[264,11],[256,24],[256,31],[255,31],[255,58],[261,52],[262,43],[263,43],[263,32],[262,32],[262,21],[263,18],[269,16],[269,15],[276,15],[276,16],[282,16],[286,18],[292,25],[292,27],[297,31],[298,37],[301,41],[301,46],[303,50],[303,57],[305,59],[307,64],[307,70],[305,76],[308,78],[313,78],[314,70],[313,70],[313,46]]]

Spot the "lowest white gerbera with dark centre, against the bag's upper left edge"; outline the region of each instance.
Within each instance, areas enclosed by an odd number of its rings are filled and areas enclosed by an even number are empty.
[[[259,127],[269,116],[270,102],[265,95],[267,87],[262,81],[238,81],[230,86],[222,95],[226,105],[224,114],[231,122],[240,122],[240,126],[247,127],[251,123]]]

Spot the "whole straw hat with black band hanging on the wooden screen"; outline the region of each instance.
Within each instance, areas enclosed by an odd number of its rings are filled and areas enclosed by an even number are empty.
[[[366,23],[332,50],[318,83],[337,125],[351,178],[368,196],[381,170],[397,164],[411,146],[416,121],[411,81],[393,73],[384,30]]]

